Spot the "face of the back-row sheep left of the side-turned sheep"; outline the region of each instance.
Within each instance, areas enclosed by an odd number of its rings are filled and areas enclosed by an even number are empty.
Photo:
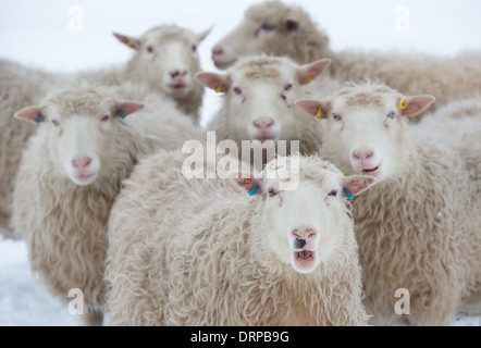
[[[152,88],[181,99],[196,87],[193,75],[200,70],[197,46],[209,32],[194,34],[176,26],[160,26],[138,39],[114,35],[137,50],[127,67],[133,74]]]

